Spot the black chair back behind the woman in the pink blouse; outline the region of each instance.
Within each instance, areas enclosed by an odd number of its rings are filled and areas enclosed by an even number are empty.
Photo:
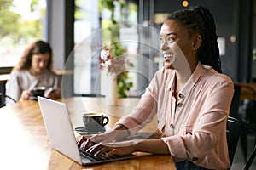
[[[234,156],[236,153],[236,147],[237,147],[238,141],[241,137],[241,133],[244,131],[252,133],[253,138],[254,138],[253,150],[252,150],[250,156],[248,157],[246,165],[244,167],[244,170],[247,170],[252,166],[253,160],[256,156],[256,130],[251,125],[247,124],[247,122],[243,122],[243,121],[238,120],[231,116],[228,117],[227,142],[228,142],[228,149],[229,149],[231,165],[234,160]]]

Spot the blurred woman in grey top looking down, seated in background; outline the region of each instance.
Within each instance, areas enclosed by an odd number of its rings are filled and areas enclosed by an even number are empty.
[[[26,47],[6,83],[6,94],[15,100],[32,99],[32,89],[36,87],[45,88],[44,97],[61,96],[61,82],[53,70],[52,48],[42,40]]]

